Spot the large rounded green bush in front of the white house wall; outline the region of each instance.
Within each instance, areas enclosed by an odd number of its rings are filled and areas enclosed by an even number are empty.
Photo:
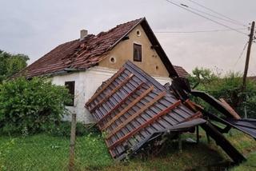
[[[71,97],[64,86],[43,78],[17,78],[0,85],[0,131],[37,133],[56,125]]]

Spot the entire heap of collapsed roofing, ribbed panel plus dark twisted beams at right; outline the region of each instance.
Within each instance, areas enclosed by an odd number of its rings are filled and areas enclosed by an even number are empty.
[[[190,101],[189,94],[209,102],[225,118],[208,113]],[[245,157],[222,133],[234,127],[256,137],[256,121],[242,120],[224,101],[191,90],[183,78],[174,78],[171,85],[163,86],[132,62],[126,62],[112,78],[103,82],[86,102],[86,108],[106,135],[106,145],[117,160],[137,153],[146,145],[158,145],[154,143],[156,140],[162,139],[163,143],[163,137],[174,138],[200,125],[234,162],[241,162]],[[221,129],[211,121],[221,122],[226,128]]]

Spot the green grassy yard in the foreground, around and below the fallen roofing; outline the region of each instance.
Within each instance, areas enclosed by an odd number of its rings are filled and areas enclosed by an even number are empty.
[[[214,141],[206,142],[201,131],[200,144],[183,143],[182,153],[178,142],[166,145],[158,156],[138,155],[125,162],[113,161],[102,137],[88,134],[77,138],[77,170],[219,170],[230,164],[229,157]],[[226,135],[248,161],[231,170],[255,170],[256,143],[254,139],[233,130]],[[191,137],[184,135],[183,139]],[[69,138],[38,134],[28,137],[0,137],[0,170],[66,170],[69,157]],[[223,166],[223,167],[222,167]]]

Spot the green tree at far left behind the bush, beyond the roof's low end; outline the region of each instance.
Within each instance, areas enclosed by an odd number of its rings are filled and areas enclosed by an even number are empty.
[[[25,54],[10,54],[0,50],[0,82],[24,69],[29,59]]]

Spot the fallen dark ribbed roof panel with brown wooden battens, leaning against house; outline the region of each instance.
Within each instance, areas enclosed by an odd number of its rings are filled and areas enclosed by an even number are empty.
[[[132,62],[104,82],[86,102],[106,134],[112,157],[123,156],[154,133],[200,117]]]

